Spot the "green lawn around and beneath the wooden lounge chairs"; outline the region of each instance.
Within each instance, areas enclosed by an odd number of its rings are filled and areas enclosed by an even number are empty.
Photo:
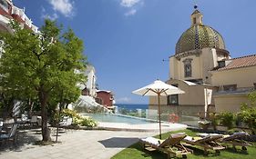
[[[170,132],[167,134],[162,134],[162,138],[168,138],[169,134],[185,132],[188,135],[195,136],[198,132],[193,132],[191,130],[182,130],[177,132]],[[159,138],[159,136],[155,136]],[[194,154],[189,154],[189,159],[201,159],[201,158],[209,158],[209,159],[253,159],[256,158],[256,143],[253,143],[252,146],[247,147],[247,151],[241,151],[241,147],[237,147],[237,151],[233,150],[231,146],[227,149],[221,150],[220,154],[217,155],[213,151],[210,151],[209,155],[203,154],[203,149],[201,147],[189,147],[193,149]],[[147,150],[143,150],[141,144],[136,143],[130,145],[125,150],[120,153],[114,155],[111,159],[166,159],[166,154],[161,154],[158,151],[148,152]]]

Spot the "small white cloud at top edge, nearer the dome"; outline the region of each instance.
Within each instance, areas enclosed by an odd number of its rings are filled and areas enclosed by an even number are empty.
[[[144,0],[121,0],[120,5],[126,8],[126,16],[135,15],[138,7],[144,5]]]

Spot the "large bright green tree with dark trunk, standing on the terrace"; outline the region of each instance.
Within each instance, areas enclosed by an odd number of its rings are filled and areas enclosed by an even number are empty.
[[[60,92],[69,102],[76,101],[80,92],[77,83],[85,80],[77,73],[86,67],[83,41],[71,29],[62,32],[55,21],[48,19],[39,35],[16,23],[11,25],[14,34],[1,35],[5,42],[0,59],[3,87],[15,94],[36,96],[41,106],[43,141],[49,141],[47,103],[61,102],[56,97]]]

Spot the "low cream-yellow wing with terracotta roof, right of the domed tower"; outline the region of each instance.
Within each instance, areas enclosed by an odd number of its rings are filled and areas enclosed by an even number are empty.
[[[226,61],[212,70],[212,85],[216,112],[239,112],[241,103],[248,103],[247,94],[256,90],[256,55],[248,55]]]

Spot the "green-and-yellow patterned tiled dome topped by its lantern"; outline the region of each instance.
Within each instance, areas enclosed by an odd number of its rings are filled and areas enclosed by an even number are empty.
[[[225,49],[225,43],[220,33],[212,27],[202,24],[200,11],[194,11],[191,15],[191,22],[191,27],[179,37],[176,44],[176,55],[205,47]]]

